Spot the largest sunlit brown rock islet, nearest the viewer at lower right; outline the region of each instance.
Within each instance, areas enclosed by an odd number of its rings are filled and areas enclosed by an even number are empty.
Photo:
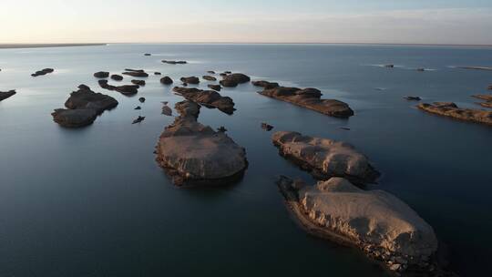
[[[398,272],[407,267],[424,272],[435,268],[429,264],[437,250],[433,228],[394,195],[361,190],[336,177],[315,186],[281,177],[277,184],[293,215],[310,233],[351,243],[388,268],[399,264]]]

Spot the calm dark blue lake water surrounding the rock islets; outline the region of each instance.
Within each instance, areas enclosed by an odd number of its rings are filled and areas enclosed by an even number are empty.
[[[152,53],[153,56],[143,56]],[[184,59],[171,66],[161,59]],[[392,63],[394,69],[377,65]],[[492,48],[330,45],[109,45],[0,50],[0,276],[382,276],[364,255],[308,236],[289,216],[278,175],[313,181],[278,155],[274,130],[348,141],[383,172],[377,189],[405,200],[429,222],[452,268],[477,276],[492,256],[492,128],[415,108],[455,101],[478,108]],[[44,67],[45,77],[30,77]],[[433,69],[417,72],[416,67]],[[227,188],[174,187],[154,147],[173,118],[160,101],[182,100],[151,75],[137,97],[100,89],[92,74],[124,68],[177,80],[231,70],[284,86],[318,87],[354,108],[330,118],[256,93],[224,89],[233,116],[202,108],[200,122],[225,126],[245,147],[244,179]],[[122,83],[129,83],[126,77]],[[112,82],[114,83],[114,82]],[[86,84],[119,101],[87,128],[60,128],[50,113]],[[208,83],[202,82],[200,87]],[[375,89],[383,88],[383,89]],[[146,97],[140,104],[138,97]],[[134,110],[141,106],[142,110]],[[138,115],[146,120],[131,125]],[[351,128],[350,131],[341,127]]]

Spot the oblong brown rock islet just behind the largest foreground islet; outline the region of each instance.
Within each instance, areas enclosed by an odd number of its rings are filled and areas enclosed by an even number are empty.
[[[342,141],[279,131],[273,134],[272,142],[280,149],[282,156],[312,172],[318,179],[343,177],[363,184],[375,182],[380,176],[369,159],[352,145]]]

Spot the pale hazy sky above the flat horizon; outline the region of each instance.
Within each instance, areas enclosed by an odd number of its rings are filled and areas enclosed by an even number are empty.
[[[7,43],[492,45],[492,0],[1,0]]]

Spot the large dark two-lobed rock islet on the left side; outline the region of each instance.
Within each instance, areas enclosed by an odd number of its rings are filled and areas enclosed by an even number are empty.
[[[96,93],[86,85],[78,86],[65,102],[66,108],[57,108],[51,115],[60,126],[79,128],[90,125],[105,110],[118,106],[118,101],[107,95]]]

